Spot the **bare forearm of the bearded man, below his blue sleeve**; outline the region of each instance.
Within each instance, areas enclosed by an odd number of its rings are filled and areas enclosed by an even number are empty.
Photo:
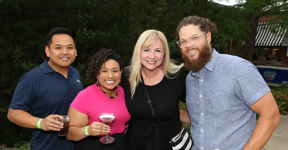
[[[276,113],[272,117],[259,116],[250,139],[243,150],[260,150],[270,139],[272,133],[280,122],[280,115]]]

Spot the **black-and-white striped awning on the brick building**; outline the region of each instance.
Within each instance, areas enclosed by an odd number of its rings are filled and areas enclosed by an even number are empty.
[[[255,46],[288,46],[288,38],[285,35],[287,29],[279,27],[276,34],[270,32],[267,22],[258,23]]]

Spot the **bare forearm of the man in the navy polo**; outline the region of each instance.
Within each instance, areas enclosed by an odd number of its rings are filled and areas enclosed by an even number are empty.
[[[21,109],[10,109],[8,110],[7,118],[19,125],[26,128],[37,128],[37,122],[40,118],[34,117],[28,112]]]

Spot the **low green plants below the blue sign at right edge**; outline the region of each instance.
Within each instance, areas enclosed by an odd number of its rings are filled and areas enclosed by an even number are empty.
[[[288,89],[287,84],[282,84],[280,87],[273,87],[271,93],[277,103],[279,112],[287,115],[288,112]]]

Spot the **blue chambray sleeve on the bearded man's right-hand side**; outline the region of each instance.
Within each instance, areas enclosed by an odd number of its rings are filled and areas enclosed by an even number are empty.
[[[251,106],[270,91],[257,68],[247,60],[241,59],[235,63],[232,76],[235,81],[234,90],[247,106]]]

